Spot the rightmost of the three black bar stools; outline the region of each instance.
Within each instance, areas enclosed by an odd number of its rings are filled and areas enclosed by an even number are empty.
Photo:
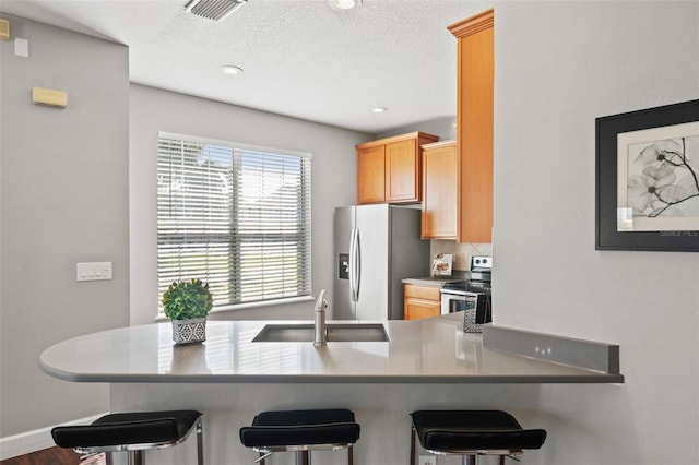
[[[513,416],[501,410],[416,410],[411,437],[411,465],[415,464],[415,437],[423,449],[439,455],[462,455],[475,465],[477,455],[506,456],[524,449],[540,449],[543,429],[522,429]]]

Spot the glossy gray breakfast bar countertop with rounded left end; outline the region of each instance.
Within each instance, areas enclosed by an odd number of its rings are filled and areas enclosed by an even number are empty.
[[[567,338],[532,342],[536,333],[498,326],[493,337],[463,333],[462,313],[382,322],[391,342],[331,342],[321,347],[310,342],[252,342],[271,323],[295,322],[210,320],[206,341],[183,346],[174,345],[169,322],[109,330],[47,348],[39,367],[67,381],[109,383],[624,382],[618,346]],[[493,341],[484,344],[486,336]],[[531,354],[521,350],[529,345]],[[588,345],[608,358],[608,366],[605,360],[595,366],[556,359],[557,354],[585,354]]]

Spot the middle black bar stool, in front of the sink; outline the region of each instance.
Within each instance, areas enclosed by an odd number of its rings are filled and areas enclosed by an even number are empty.
[[[240,441],[260,453],[256,463],[274,452],[296,452],[296,464],[310,464],[310,451],[347,449],[354,463],[353,444],[359,439],[354,413],[344,408],[263,412],[252,426],[240,428]]]

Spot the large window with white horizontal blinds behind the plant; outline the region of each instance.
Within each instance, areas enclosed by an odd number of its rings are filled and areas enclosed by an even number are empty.
[[[214,309],[310,296],[310,154],[159,132],[157,277]]]

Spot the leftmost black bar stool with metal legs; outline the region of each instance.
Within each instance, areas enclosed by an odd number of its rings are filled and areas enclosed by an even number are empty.
[[[59,426],[51,430],[54,442],[85,456],[105,452],[129,452],[129,465],[143,465],[143,451],[179,444],[197,429],[197,463],[204,464],[201,413],[197,410],[134,412],[110,414],[92,425]]]

